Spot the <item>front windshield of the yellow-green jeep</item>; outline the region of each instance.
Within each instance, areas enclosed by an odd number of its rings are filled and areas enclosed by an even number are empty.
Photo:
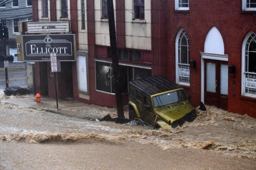
[[[152,97],[153,104],[155,108],[163,107],[166,105],[179,103],[184,100],[188,100],[183,89],[177,91],[167,92],[165,94],[160,94]]]

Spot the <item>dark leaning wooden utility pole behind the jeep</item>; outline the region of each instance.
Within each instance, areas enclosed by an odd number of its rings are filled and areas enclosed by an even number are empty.
[[[117,104],[117,117],[120,120],[125,119],[123,113],[123,101],[122,101],[122,87],[121,78],[119,74],[118,56],[117,56],[117,39],[115,36],[115,18],[113,0],[108,0],[108,18],[109,18],[109,36],[110,36],[110,49],[112,50],[112,67],[113,78],[115,86],[115,102]]]

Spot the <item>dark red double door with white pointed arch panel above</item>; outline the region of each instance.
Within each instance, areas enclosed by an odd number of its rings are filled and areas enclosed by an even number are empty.
[[[208,32],[202,57],[202,92],[204,103],[228,109],[228,56],[216,27]]]

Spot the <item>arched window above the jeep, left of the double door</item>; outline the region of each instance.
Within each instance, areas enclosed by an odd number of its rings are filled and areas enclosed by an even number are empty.
[[[176,83],[189,86],[189,39],[184,29],[176,37]]]

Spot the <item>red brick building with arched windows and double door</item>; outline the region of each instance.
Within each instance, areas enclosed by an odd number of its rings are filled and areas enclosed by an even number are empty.
[[[256,117],[255,4],[166,2],[166,76],[183,84],[193,105],[203,101]],[[188,67],[191,59],[195,67]]]

